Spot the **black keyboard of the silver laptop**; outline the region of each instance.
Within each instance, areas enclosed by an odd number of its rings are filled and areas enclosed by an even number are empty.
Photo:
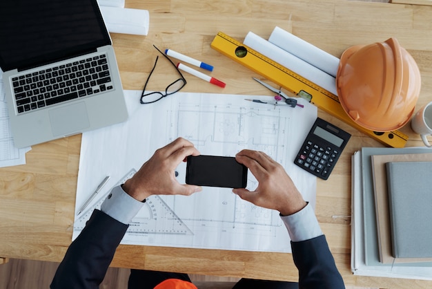
[[[12,77],[18,113],[112,89],[106,55]]]

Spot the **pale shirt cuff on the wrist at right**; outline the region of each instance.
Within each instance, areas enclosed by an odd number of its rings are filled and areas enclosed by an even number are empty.
[[[323,234],[315,212],[309,204],[299,212],[281,218],[293,242],[306,241]]]

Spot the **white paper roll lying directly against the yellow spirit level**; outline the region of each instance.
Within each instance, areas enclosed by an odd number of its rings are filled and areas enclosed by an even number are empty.
[[[308,64],[299,57],[286,52],[282,48],[271,44],[266,39],[259,37],[253,32],[248,32],[244,38],[244,45],[256,50],[258,53],[272,59],[274,62],[290,69],[291,71],[301,75],[310,82],[321,86],[322,88],[337,95],[336,78],[321,71],[315,66]]]

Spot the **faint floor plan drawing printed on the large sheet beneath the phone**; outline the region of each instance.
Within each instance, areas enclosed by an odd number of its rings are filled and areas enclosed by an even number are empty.
[[[166,131],[168,140],[182,136],[193,142],[203,154],[206,154],[206,151],[217,151],[217,148],[223,145],[224,156],[235,156],[235,153],[248,147],[266,151],[282,165],[286,162],[285,142],[289,139],[290,118],[286,113],[282,114],[277,106],[257,109],[229,103],[221,105],[180,102],[173,111],[167,111],[167,122],[170,124]],[[257,181],[249,173],[247,188],[255,189],[256,186]],[[262,230],[262,234],[274,236],[272,227],[275,229],[283,226],[277,212],[243,201],[232,194],[230,189],[206,187],[204,194],[218,196],[218,200],[208,203],[208,198],[197,195],[193,196],[194,203],[215,207],[214,213],[211,209],[199,212],[183,210],[181,208],[190,206],[173,201],[173,210],[193,231],[206,230],[205,228],[215,227],[214,223],[219,223],[218,226],[223,230],[247,230],[253,227],[253,230]],[[221,209],[224,214],[220,214]]]

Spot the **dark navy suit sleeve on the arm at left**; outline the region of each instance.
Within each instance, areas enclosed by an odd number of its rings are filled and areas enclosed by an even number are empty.
[[[128,225],[97,209],[69,246],[50,288],[99,288]]]

